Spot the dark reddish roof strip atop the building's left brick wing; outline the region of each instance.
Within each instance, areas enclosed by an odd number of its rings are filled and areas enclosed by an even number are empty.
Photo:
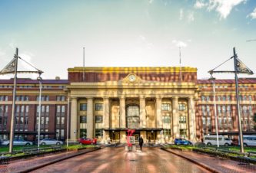
[[[13,84],[13,78],[9,80],[0,80],[0,84]],[[35,84],[38,80],[32,80],[29,78],[17,79],[18,84]],[[42,84],[68,84],[68,80],[42,80]]]

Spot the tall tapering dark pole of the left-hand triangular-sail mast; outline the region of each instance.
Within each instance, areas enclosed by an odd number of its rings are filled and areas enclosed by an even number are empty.
[[[15,118],[17,69],[18,69],[18,48],[16,48],[16,54],[15,54],[15,75],[14,75],[13,94],[12,94],[12,117],[11,117],[9,153],[12,153],[13,139],[14,139],[13,137],[14,137],[14,118]]]

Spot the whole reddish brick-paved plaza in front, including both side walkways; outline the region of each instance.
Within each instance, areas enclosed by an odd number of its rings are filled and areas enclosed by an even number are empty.
[[[27,172],[30,168],[44,164],[47,166],[32,172],[210,172],[205,169],[206,167],[215,172],[256,172],[256,165],[240,165],[239,162],[229,159],[215,158],[194,152],[178,150],[166,152],[160,148],[149,147],[143,148],[142,152],[138,149],[136,152],[125,152],[123,147],[107,147],[95,152],[90,151],[91,149],[86,149],[79,152],[62,152],[16,160],[8,165],[0,165],[0,172]],[[204,165],[204,168],[178,155],[191,158],[194,162]],[[48,165],[49,162],[67,156],[75,157]]]

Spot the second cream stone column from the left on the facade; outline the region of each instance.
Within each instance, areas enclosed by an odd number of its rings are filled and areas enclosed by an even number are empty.
[[[87,98],[87,137],[93,138],[93,99]]]

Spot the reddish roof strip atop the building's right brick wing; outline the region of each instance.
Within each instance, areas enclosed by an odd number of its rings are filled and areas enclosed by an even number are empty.
[[[214,80],[216,84],[234,84],[234,80]],[[211,80],[198,80],[198,84],[211,84]],[[239,84],[254,84],[256,78],[240,78],[238,79]]]

